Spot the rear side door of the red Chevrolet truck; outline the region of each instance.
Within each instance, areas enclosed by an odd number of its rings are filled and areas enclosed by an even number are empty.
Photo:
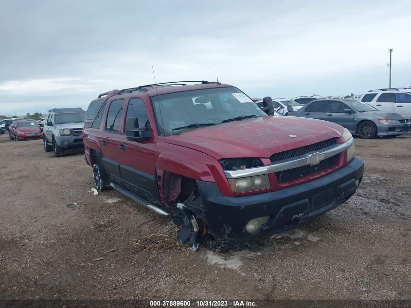
[[[114,99],[107,111],[106,124],[102,136],[102,162],[111,181],[123,185],[120,176],[120,157],[123,150],[122,117],[125,99]]]

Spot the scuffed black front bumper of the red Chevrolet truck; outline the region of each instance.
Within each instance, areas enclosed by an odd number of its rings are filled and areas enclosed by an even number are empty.
[[[354,195],[364,162],[355,157],[347,166],[304,184],[243,197],[223,196],[214,182],[197,181],[209,232],[224,246],[234,247],[253,238],[270,236],[325,213]],[[246,224],[269,216],[268,224],[249,234]]]

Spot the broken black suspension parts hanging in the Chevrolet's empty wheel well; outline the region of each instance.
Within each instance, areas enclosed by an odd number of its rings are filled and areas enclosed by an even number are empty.
[[[177,213],[174,214],[173,223],[181,227],[177,234],[177,240],[183,244],[189,241],[189,247],[192,252],[198,249],[197,232],[198,224],[193,213],[182,203],[177,203]]]

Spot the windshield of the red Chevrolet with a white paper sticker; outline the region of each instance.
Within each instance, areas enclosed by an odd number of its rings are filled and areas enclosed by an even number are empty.
[[[151,99],[159,128],[165,135],[267,116],[247,95],[234,87],[163,94]]]

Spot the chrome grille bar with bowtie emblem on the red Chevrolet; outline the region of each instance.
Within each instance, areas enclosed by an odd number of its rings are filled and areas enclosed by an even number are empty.
[[[252,177],[257,175],[263,175],[273,172],[279,172],[289,169],[294,169],[306,165],[315,165],[320,163],[322,160],[330,158],[331,156],[337,155],[342,151],[347,150],[351,145],[354,144],[354,139],[351,137],[348,141],[343,144],[335,145],[331,148],[326,148],[318,152],[307,153],[297,158],[292,158],[284,160],[280,163],[273,163],[267,166],[254,167],[241,170],[224,170],[227,179],[238,179],[244,177]]]

